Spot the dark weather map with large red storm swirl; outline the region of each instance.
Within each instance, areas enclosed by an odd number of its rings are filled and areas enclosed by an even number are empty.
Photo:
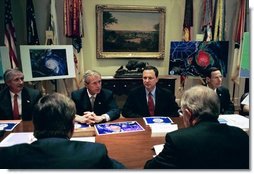
[[[225,77],[228,41],[173,41],[170,45],[170,75],[205,77],[207,69],[217,67]]]

